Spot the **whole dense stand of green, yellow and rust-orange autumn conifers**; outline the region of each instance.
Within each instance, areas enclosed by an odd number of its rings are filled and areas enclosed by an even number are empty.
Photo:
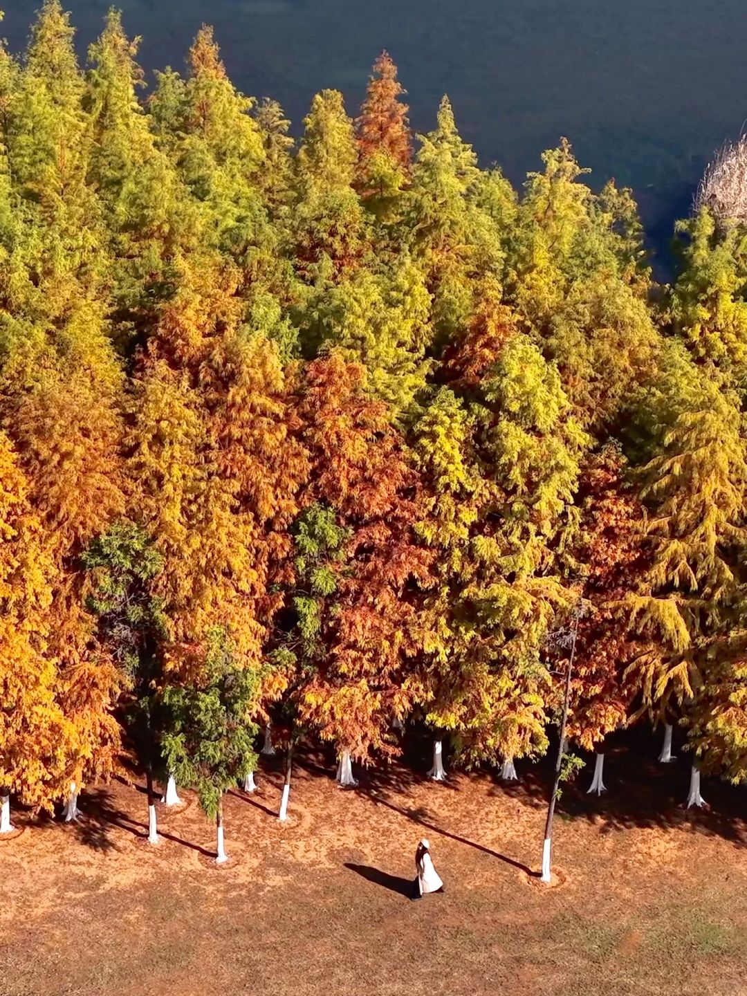
[[[565,138],[516,190],[405,102],[382,53],[296,140],[209,27],[146,89],[59,0],[0,49],[0,837],[127,759],[221,861],[260,749],[283,820],[302,741],[353,784],[413,724],[436,780],[601,792],[647,724],[747,781],[742,146],[661,285]]]

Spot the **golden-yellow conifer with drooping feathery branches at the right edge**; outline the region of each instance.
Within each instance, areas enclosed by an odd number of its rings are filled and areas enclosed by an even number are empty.
[[[709,680],[707,647],[738,589],[744,546],[744,440],[740,413],[679,344],[667,347],[644,418],[656,431],[644,467],[651,565],[628,601],[649,635],[628,668],[642,708],[670,722]]]

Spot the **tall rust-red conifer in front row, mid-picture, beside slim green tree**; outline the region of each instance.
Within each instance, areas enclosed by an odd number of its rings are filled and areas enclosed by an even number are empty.
[[[295,615],[283,645],[308,661],[302,722],[340,753],[394,753],[391,716],[406,709],[417,651],[409,592],[429,583],[412,530],[416,479],[364,371],[332,355],[309,365],[300,415],[310,452],[306,511],[296,536]],[[298,659],[298,657],[297,657]]]

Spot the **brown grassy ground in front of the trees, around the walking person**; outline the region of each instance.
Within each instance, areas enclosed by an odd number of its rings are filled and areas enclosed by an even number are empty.
[[[541,856],[546,765],[429,783],[407,766],[338,789],[305,754],[280,825],[280,761],[231,793],[226,850],[189,793],[144,841],[142,784],[89,791],[77,826],[30,821],[0,844],[2,996],[645,996],[747,993],[747,790],[704,780],[710,811],[678,807],[687,765],[650,737],[610,749],[609,792],[587,768],[556,821],[561,884]],[[410,902],[427,836],[444,895]]]

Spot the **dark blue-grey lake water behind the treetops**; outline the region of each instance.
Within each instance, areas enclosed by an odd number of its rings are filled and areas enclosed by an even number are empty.
[[[39,0],[0,0],[18,51]],[[82,52],[110,0],[68,0]],[[714,146],[747,117],[745,0],[122,0],[147,70],[183,65],[203,20],[248,94],[272,96],[296,129],[313,94],[344,91],[355,113],[381,48],[432,126],[447,92],[483,164],[515,183],[567,135],[601,184],[633,187],[665,253]]]

